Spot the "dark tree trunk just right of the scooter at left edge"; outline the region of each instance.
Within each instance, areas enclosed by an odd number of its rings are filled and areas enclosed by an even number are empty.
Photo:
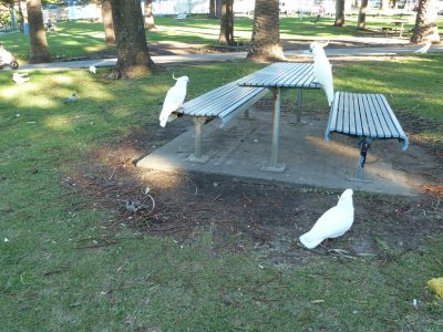
[[[28,23],[29,23],[29,43],[31,52],[30,63],[40,63],[51,61],[49,53],[47,32],[43,25],[43,14],[40,0],[27,0]]]

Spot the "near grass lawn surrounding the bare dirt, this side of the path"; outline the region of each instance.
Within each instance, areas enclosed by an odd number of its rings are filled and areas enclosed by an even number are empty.
[[[442,124],[442,64],[429,54],[334,66],[336,87],[385,93],[400,118]],[[31,71],[23,85],[0,72],[2,330],[441,329],[443,303],[425,283],[443,273],[442,234],[388,263],[311,255],[305,264],[279,266],[253,243],[215,256],[210,227],[182,243],[104,228],[116,211],[66,188],[92,152],[157,124],[173,71],[189,76],[192,98],[260,66],[178,65],[134,81],[107,81],[103,70]],[[79,101],[63,104],[72,91]],[[326,112],[319,94],[307,93],[306,107]],[[442,137],[441,126],[430,131]],[[117,245],[81,248],[103,237]]]

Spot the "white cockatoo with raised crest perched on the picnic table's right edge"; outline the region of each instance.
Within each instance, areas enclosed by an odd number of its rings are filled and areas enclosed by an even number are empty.
[[[313,42],[309,45],[309,51],[313,55],[313,75],[316,81],[323,87],[328,104],[331,106],[333,101],[333,80],[332,68],[323,50],[326,45],[328,43]]]

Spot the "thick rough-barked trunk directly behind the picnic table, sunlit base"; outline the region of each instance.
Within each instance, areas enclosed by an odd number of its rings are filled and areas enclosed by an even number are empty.
[[[285,61],[280,44],[278,0],[256,0],[251,46],[247,59],[253,61]]]

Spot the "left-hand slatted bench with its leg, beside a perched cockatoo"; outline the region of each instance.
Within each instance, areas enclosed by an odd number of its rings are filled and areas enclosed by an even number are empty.
[[[235,81],[183,104],[177,113],[193,116],[195,125],[195,151],[188,159],[199,163],[208,159],[203,155],[202,136],[205,123],[218,118],[223,126],[238,113],[246,112],[267,92],[266,87],[243,87]]]

